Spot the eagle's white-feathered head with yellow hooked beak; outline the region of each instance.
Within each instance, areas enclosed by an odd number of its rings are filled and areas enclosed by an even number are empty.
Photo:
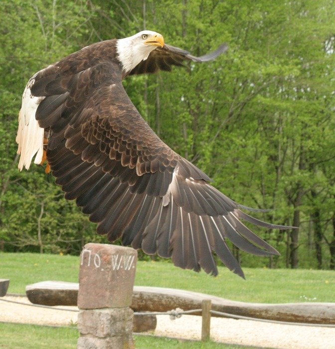
[[[134,69],[158,46],[164,46],[164,38],[160,33],[151,30],[143,30],[133,36],[119,39],[116,48],[123,70],[128,73]]]

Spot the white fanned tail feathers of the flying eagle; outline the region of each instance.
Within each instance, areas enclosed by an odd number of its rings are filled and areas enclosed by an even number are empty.
[[[36,154],[35,164],[40,164],[43,156],[44,129],[39,127],[35,119],[36,109],[45,97],[33,97],[30,87],[34,83],[34,76],[28,81],[22,95],[22,106],[18,114],[18,130],[16,136],[17,154],[20,154],[18,168],[27,170],[30,167],[32,158]]]

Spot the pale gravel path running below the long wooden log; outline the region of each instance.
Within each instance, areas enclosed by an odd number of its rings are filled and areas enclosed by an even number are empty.
[[[68,326],[77,321],[75,312],[23,306],[3,300],[31,304],[25,297],[0,298],[0,322]],[[78,309],[77,307],[57,308]],[[179,319],[170,320],[166,315],[159,315],[155,335],[200,340],[201,318],[183,315]],[[335,328],[211,318],[211,339],[216,342],[257,348],[335,349]]]

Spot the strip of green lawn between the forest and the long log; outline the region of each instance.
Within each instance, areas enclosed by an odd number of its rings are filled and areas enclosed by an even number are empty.
[[[0,278],[9,293],[45,280],[78,282],[79,257],[35,253],[0,253]],[[335,302],[335,272],[330,270],[244,268],[243,280],[219,267],[219,275],[182,270],[171,263],[138,262],[136,285],[178,288],[236,301],[259,303]]]

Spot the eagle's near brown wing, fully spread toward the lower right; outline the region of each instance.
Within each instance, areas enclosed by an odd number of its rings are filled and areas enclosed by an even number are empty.
[[[210,178],[173,152],[143,120],[116,78],[115,63],[45,76],[31,87],[45,96],[36,111],[50,128],[47,160],[67,199],[98,223],[99,234],[181,268],[217,274],[213,253],[243,272],[226,239],[256,254],[278,254],[240,222],[268,228],[208,183]]]

